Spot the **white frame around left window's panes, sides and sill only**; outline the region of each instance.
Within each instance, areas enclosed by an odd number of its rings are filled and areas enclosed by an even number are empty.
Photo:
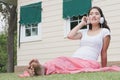
[[[29,41],[36,41],[36,40],[41,40],[41,23],[38,23],[38,35],[36,36],[30,36],[26,37],[25,36],[25,26],[21,25],[21,32],[20,32],[20,42],[29,42]]]

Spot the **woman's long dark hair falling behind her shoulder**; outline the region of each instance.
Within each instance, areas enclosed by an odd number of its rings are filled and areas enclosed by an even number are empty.
[[[107,21],[106,21],[106,19],[105,19],[105,16],[103,15],[103,12],[102,12],[102,10],[101,10],[99,7],[97,7],[97,6],[92,7],[92,8],[89,10],[88,15],[90,14],[90,11],[91,11],[92,9],[97,9],[97,10],[99,11],[101,17],[104,18],[104,23],[102,24],[102,28],[107,28],[108,30],[110,30],[109,26],[107,25]],[[101,25],[101,24],[99,24],[99,25]],[[92,24],[89,24],[89,29],[90,29],[90,30],[92,29]]]

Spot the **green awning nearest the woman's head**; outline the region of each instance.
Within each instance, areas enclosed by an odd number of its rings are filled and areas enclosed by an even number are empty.
[[[87,14],[91,0],[63,0],[63,18]]]

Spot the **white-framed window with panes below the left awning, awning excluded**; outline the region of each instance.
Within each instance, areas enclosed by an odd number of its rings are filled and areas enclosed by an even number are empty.
[[[41,24],[21,25],[20,42],[41,40]]]

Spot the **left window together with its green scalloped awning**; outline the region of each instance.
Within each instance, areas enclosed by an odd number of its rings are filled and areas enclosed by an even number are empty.
[[[20,42],[41,40],[41,2],[20,7]]]

